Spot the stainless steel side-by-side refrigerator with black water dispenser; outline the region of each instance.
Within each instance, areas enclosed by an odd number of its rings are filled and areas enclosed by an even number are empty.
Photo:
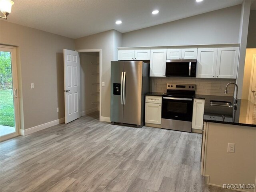
[[[149,63],[111,62],[112,124],[144,125],[145,94],[149,92]]]

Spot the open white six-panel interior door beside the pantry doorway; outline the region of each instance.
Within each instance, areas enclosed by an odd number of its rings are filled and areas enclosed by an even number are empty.
[[[64,49],[65,123],[80,118],[80,59],[78,52]]]

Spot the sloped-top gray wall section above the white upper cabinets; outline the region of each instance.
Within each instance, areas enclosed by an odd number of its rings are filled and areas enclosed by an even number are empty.
[[[238,43],[241,5],[123,34],[123,47]]]

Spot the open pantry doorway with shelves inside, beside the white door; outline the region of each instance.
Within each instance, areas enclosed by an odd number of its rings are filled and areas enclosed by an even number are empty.
[[[76,50],[80,57],[81,116],[100,120],[101,50]]]

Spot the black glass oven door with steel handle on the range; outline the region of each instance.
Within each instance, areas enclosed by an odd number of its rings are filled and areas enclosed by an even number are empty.
[[[162,118],[192,122],[193,99],[163,97]]]

